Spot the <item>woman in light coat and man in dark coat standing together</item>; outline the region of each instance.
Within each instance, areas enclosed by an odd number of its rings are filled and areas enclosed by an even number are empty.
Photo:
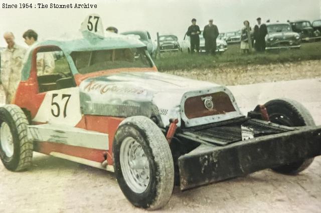
[[[261,23],[261,18],[257,18],[256,21],[257,25],[255,25],[254,30],[250,27],[249,21],[243,22],[244,27],[241,30],[241,50],[243,53],[250,53],[252,47],[254,47],[257,52],[265,51],[267,27]]]

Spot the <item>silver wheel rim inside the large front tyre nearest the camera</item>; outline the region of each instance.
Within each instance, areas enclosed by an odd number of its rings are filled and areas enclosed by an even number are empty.
[[[149,184],[149,162],[141,145],[132,137],[126,137],[120,146],[120,166],[129,188],[142,193]]]

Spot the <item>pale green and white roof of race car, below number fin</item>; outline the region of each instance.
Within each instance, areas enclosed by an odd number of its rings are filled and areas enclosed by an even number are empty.
[[[71,52],[78,51],[140,48],[146,46],[138,39],[133,39],[123,35],[109,33],[107,36],[108,37],[100,37],[88,33],[82,38],[62,40],[52,39],[39,42],[34,48],[42,46],[58,46],[64,53],[70,54]]]

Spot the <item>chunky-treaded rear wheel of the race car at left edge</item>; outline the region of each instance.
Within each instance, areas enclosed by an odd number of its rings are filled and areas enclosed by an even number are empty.
[[[33,143],[27,138],[27,126],[27,117],[20,107],[0,107],[0,157],[11,171],[22,171],[31,165]]]

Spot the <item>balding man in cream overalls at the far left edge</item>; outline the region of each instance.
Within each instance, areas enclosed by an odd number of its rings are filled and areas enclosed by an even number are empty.
[[[21,80],[21,70],[26,49],[15,43],[13,33],[5,33],[4,38],[8,46],[1,52],[0,79],[6,95],[6,104],[10,104]]]

